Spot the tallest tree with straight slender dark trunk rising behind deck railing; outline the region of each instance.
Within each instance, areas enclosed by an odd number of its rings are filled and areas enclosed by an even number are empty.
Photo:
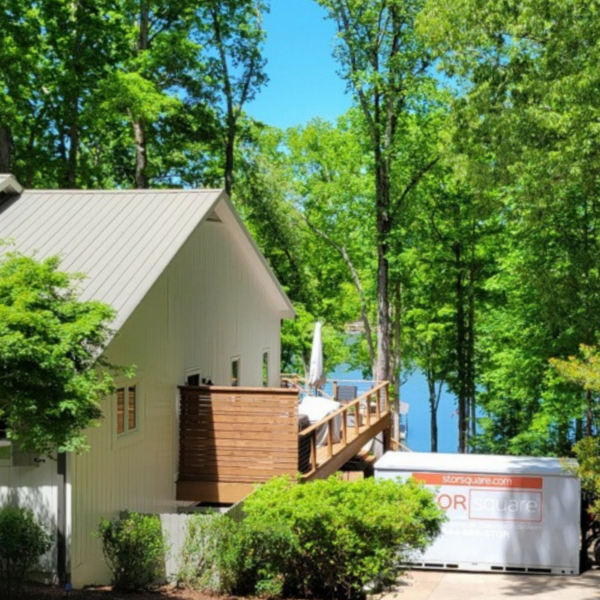
[[[397,169],[407,118],[426,102],[430,59],[415,35],[421,3],[407,0],[317,0],[338,30],[336,57],[363,114],[374,182],[377,254],[376,379],[391,378],[390,237],[404,202],[437,162],[430,155],[408,173]]]

